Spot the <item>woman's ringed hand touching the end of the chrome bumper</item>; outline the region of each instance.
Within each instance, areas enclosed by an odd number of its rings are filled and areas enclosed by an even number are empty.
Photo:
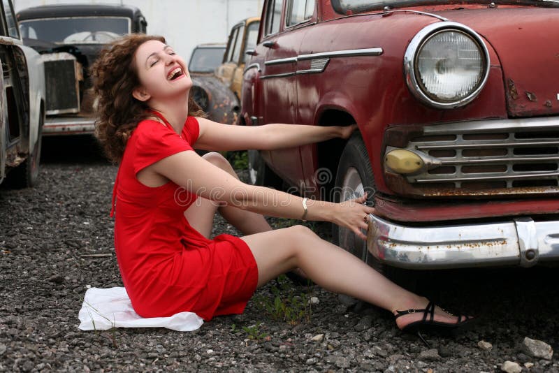
[[[367,240],[362,229],[367,231],[369,214],[375,214],[375,207],[365,205],[367,193],[352,200],[344,200],[337,203],[334,217],[334,224],[350,229],[362,240]]]

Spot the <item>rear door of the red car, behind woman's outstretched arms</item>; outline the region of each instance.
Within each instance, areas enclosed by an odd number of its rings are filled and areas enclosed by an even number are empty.
[[[261,74],[263,122],[295,125],[297,121],[296,61],[299,41],[284,31],[285,0],[268,0],[263,13],[263,38],[266,57]],[[297,187],[303,178],[299,147],[270,152],[271,168],[289,184]]]

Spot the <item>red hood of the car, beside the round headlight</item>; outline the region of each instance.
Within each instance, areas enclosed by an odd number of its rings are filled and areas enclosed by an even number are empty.
[[[471,27],[493,47],[511,117],[559,113],[559,9],[494,8],[435,13]]]

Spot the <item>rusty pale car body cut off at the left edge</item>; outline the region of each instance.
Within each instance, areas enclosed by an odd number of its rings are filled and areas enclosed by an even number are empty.
[[[0,183],[33,186],[45,119],[43,61],[23,45],[12,1],[2,1],[0,10]]]

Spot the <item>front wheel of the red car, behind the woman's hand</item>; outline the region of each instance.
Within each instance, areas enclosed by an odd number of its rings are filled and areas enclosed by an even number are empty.
[[[368,193],[368,201],[372,202],[374,200],[376,192],[375,177],[372,173],[367,149],[359,134],[351,136],[344,147],[337,167],[334,190],[335,202],[363,196],[365,191]],[[366,232],[363,233],[366,235]],[[368,251],[367,242],[361,240],[349,229],[333,224],[332,237],[335,244],[360,258],[377,272],[382,273],[400,286],[410,290],[415,288],[414,276],[410,274],[410,271],[393,268],[379,262]],[[371,284],[371,286],[373,285]],[[347,299],[341,298],[344,303],[347,303]]]

